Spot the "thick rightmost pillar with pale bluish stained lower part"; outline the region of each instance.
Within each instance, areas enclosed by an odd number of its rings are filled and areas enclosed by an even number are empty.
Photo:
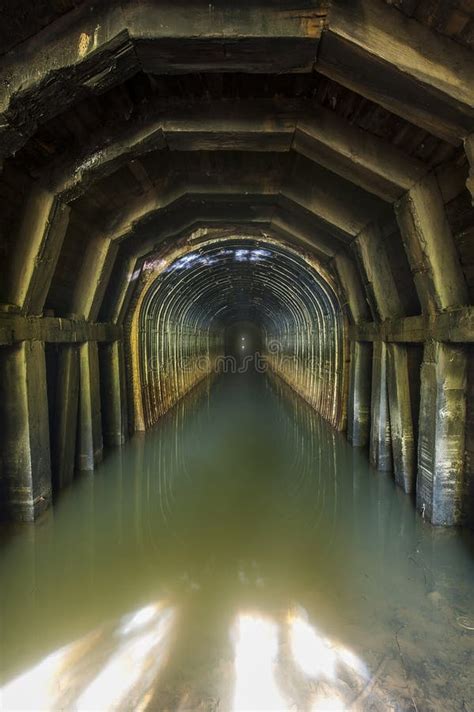
[[[433,524],[460,521],[467,350],[428,341],[421,367],[417,509]]]

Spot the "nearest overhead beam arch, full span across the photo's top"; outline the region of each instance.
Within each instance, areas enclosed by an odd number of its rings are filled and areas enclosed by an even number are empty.
[[[211,13],[205,3],[197,4],[193,12],[189,7],[184,11],[184,3],[161,3],[159,8],[146,3],[140,12],[132,2],[84,4],[40,33],[50,46],[47,56],[33,38],[5,62],[0,95],[5,155],[22,145],[38,121],[54,115],[55,90],[62,106],[67,106],[140,69],[308,72],[316,62],[323,73],[451,141],[459,142],[472,132],[473,82],[467,50],[433,37],[416,23],[408,28],[395,9],[376,0],[358,0],[353,7],[333,0],[329,15],[324,0],[304,10],[295,5],[291,11],[271,5],[268,23],[267,3],[252,3],[246,12],[215,3]],[[386,28],[391,28],[390,41]],[[222,52],[226,45],[229,51]],[[272,52],[276,45],[280,51]],[[33,76],[31,63],[37,68]],[[374,74],[374,68],[392,83],[390,95],[364,79]],[[427,105],[433,108],[427,110]]]

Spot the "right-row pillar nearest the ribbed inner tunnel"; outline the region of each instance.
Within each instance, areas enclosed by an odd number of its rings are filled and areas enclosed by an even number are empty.
[[[347,439],[357,447],[363,447],[369,442],[371,378],[372,344],[353,341],[347,405]]]

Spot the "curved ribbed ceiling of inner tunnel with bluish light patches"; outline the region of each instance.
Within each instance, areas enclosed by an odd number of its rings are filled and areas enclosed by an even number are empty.
[[[160,262],[159,254],[150,256],[145,271]],[[171,261],[149,287],[148,302],[173,293],[174,300],[185,301],[190,312],[216,327],[234,318],[273,326],[279,314],[293,311],[293,316],[298,304],[308,307],[316,292],[318,305],[327,309],[328,294],[334,294],[330,278],[298,253],[268,238],[221,234]]]

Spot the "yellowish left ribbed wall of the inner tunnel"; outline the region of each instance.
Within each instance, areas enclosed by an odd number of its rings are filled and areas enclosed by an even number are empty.
[[[146,430],[203,378],[216,373],[224,334],[193,309],[185,280],[167,272],[178,251],[145,265],[127,320],[133,429]],[[171,278],[171,279],[170,279]]]

